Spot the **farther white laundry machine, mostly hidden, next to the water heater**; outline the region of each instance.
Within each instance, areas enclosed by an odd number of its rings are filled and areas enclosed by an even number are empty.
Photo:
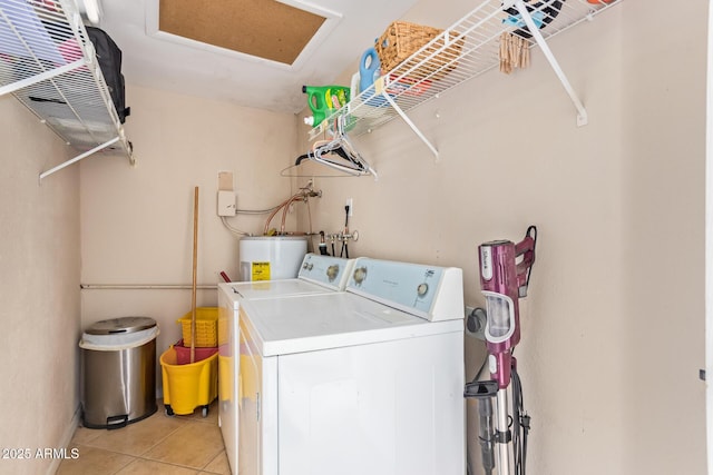
[[[296,278],[221,284],[218,291],[218,424],[228,462],[237,473],[238,448],[238,344],[237,319],[240,304],[245,299],[268,299],[305,294],[343,290],[351,275],[353,259],[307,254]],[[244,358],[243,358],[244,359]]]

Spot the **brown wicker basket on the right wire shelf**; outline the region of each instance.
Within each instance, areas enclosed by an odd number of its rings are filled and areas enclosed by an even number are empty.
[[[417,67],[424,58],[443,47],[442,39],[427,48],[419,55],[419,58],[414,58],[406,63],[403,63],[403,61],[442,32],[443,30],[438,28],[409,23],[407,21],[394,21],[391,23],[383,34],[381,34],[374,47],[377,55],[379,55],[379,61],[381,62],[382,75],[388,73],[397,66],[406,69]],[[456,34],[458,36],[458,33]],[[465,38],[458,38],[447,50],[429,59],[426,63],[419,65],[414,71],[408,75],[409,78],[414,80],[427,79],[430,81],[442,79],[456,69],[457,62],[452,60],[460,56],[463,42]]]

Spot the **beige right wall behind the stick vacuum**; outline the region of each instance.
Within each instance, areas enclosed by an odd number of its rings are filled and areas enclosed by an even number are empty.
[[[316,179],[316,229],[340,230],[353,198],[353,254],[462,267],[472,306],[477,246],[538,226],[516,352],[533,474],[706,473],[705,8],[626,1],[553,39],[586,127],[535,51],[529,70],[491,71],[412,115],[439,162],[397,120],[354,139],[378,181]],[[422,0],[406,19],[450,11]],[[467,348],[471,377],[480,352]]]

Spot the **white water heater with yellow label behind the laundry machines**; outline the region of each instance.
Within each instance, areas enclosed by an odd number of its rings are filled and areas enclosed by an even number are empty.
[[[306,236],[247,236],[241,238],[242,281],[297,277],[307,253]]]

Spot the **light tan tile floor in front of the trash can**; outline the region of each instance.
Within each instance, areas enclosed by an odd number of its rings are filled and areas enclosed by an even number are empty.
[[[214,402],[207,417],[201,408],[188,416],[156,414],[126,427],[106,431],[78,427],[69,448],[77,458],[62,461],[58,475],[231,475]]]

